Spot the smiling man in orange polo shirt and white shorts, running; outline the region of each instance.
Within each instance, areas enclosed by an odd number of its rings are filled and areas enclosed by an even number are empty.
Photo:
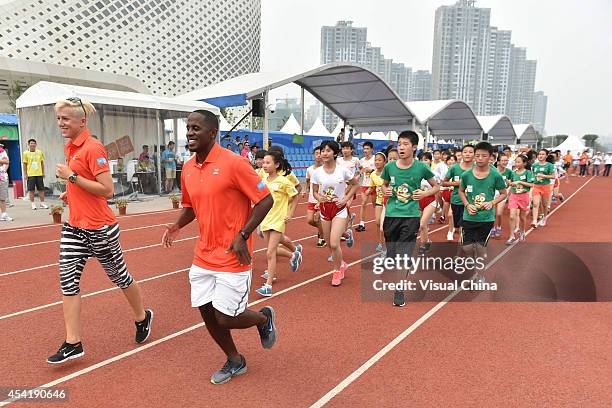
[[[218,118],[209,111],[189,115],[187,141],[195,155],[181,174],[183,210],[162,238],[164,247],[170,247],[179,230],[198,219],[200,237],[189,271],[191,305],[199,308],[208,332],[227,356],[212,375],[213,384],[247,370],[231,329],[256,326],[264,348],[276,341],[274,310],[246,308],[253,267],[251,233],[272,208],[272,195],[248,160],[215,143],[218,129]]]

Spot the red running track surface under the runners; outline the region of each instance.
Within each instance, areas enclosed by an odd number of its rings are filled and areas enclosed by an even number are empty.
[[[612,221],[605,211],[612,200],[609,180],[590,180],[572,178],[571,184],[564,183],[568,197],[588,182],[550,217],[546,228],[532,232],[528,242],[612,242]],[[304,211],[304,206],[298,207],[297,215]],[[373,223],[356,234],[355,247],[343,248],[345,259],[356,264],[342,286],[333,288],[329,275],[321,277],[331,270],[325,260],[328,251],[314,247],[315,231],[304,218],[289,224],[287,231],[304,244],[299,272],[291,274],[282,264],[276,295],[265,300],[253,293],[250,297],[257,303],[253,308],[265,303],[277,311],[279,342],[264,351],[254,329],[235,331],[249,373],[214,386],[210,374],[223,364],[224,356],[197,310],[190,307],[185,271],[195,242],[188,238],[197,234],[196,226],[181,232],[179,238],[187,239],[172,250],[157,245],[161,226],[130,230],[171,222],[176,214],[120,218],[123,247],[130,250],[128,267],[137,280],[144,280],[145,303],[155,312],[152,338],[142,346],[133,343],[127,303],[99,264],[90,261],[81,282],[87,296],[82,312],[86,355],[61,367],[45,363],[64,336],[57,303],[59,244],[3,249],[55,241],[59,227],[0,232],[0,387],[55,382],[69,389],[71,406],[88,407],[309,406],[319,400],[338,407],[603,406],[609,399],[610,303],[457,302],[434,314],[434,302],[409,303],[402,309],[390,302],[365,303],[359,261],[369,255],[369,245],[362,249],[362,244],[375,241]],[[371,208],[368,215],[373,215]],[[446,228],[431,238],[443,241]],[[265,269],[263,241],[256,238],[255,245],[260,251],[253,289]],[[503,249],[494,245],[490,256]],[[492,274],[505,268],[560,267],[553,259],[540,264],[517,260],[512,251]],[[609,244],[583,245],[576,253],[598,285],[610,285],[605,265],[612,255]],[[109,290],[99,292],[105,289]],[[429,317],[421,319],[428,312]],[[407,337],[355,374],[419,319],[422,324]]]

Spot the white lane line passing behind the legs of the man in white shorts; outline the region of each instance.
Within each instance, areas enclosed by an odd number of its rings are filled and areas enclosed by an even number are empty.
[[[368,260],[370,258],[373,258],[375,256],[378,256],[378,253],[375,253],[375,254],[372,254],[372,255],[368,255],[366,257],[363,257],[363,258],[360,258],[360,259],[358,259],[356,261],[353,261],[353,262],[349,263],[348,266],[354,266],[354,265],[356,265],[356,264],[358,264],[360,262],[363,262],[363,261]],[[315,282],[315,281],[317,281],[317,280],[319,280],[321,278],[324,278],[325,276],[331,275],[332,273],[333,273],[333,271],[325,272],[325,273],[323,273],[321,275],[318,275],[318,276],[316,276],[314,278],[308,279],[307,281],[300,282],[300,283],[298,283],[296,285],[293,285],[293,286],[290,286],[290,287],[288,287],[286,289],[278,291],[277,293],[273,294],[270,297],[258,299],[258,300],[254,301],[254,302],[249,303],[249,307],[253,307],[253,306],[255,306],[255,305],[259,304],[259,303],[267,302],[270,299],[278,297],[278,296],[280,296],[282,294],[285,294],[287,292],[293,291],[293,290],[295,290],[295,289],[297,289],[299,287],[302,287],[304,285],[307,285],[309,283]],[[118,355],[113,356],[111,358],[108,358],[106,360],[100,361],[100,362],[98,362],[96,364],[90,365],[89,367],[85,367],[85,368],[83,368],[81,370],[75,371],[74,373],[65,375],[65,376],[60,377],[60,378],[58,378],[56,380],[53,380],[51,382],[48,382],[48,383],[43,384],[43,385],[40,385],[40,386],[36,387],[36,389],[55,387],[55,386],[57,386],[59,384],[65,383],[66,381],[69,381],[69,380],[72,380],[74,378],[80,377],[80,376],[82,376],[84,374],[90,373],[90,372],[95,371],[95,370],[97,370],[99,368],[105,367],[105,366],[107,366],[109,364],[112,364],[114,362],[123,360],[123,359],[125,359],[127,357],[130,357],[130,356],[134,355],[134,354],[137,354],[137,353],[140,353],[140,352],[145,351],[147,349],[150,349],[151,347],[155,347],[155,346],[157,346],[159,344],[165,343],[165,342],[167,342],[169,340],[172,340],[172,339],[174,339],[176,337],[182,336],[183,334],[187,334],[189,332],[192,332],[195,329],[198,329],[200,327],[204,327],[204,322],[195,324],[195,325],[190,326],[190,327],[187,327],[187,328],[185,328],[183,330],[180,330],[180,331],[177,331],[175,333],[171,333],[171,334],[169,334],[167,336],[164,336],[164,337],[162,337],[160,339],[151,341],[150,343],[147,343],[144,346],[139,346],[139,347],[137,347],[135,349],[132,349],[130,351],[126,351],[125,353],[121,353],[121,354],[118,354]],[[7,399],[7,400],[4,400],[4,401],[0,402],[0,407],[6,406],[6,405],[8,405],[8,404],[10,404],[12,402],[15,402],[15,401],[17,401],[17,399]]]

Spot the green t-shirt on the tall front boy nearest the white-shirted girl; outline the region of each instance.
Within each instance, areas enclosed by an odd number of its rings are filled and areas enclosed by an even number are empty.
[[[388,163],[380,177],[389,182],[393,194],[385,209],[386,217],[420,217],[419,202],[412,199],[412,192],[421,188],[421,180],[434,178],[426,164],[415,160],[407,169],[397,167],[397,162]]]

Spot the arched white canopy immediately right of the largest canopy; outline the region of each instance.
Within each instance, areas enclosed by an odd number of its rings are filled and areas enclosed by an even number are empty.
[[[427,124],[436,137],[478,139],[482,126],[470,106],[458,99],[406,102],[421,124]]]

